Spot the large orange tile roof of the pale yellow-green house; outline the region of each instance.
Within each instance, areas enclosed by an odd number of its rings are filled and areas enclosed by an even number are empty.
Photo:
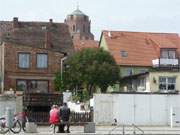
[[[103,36],[119,65],[152,66],[152,60],[159,58],[161,48],[175,48],[180,54],[180,38],[175,33],[103,31]],[[128,56],[122,57],[121,51]]]

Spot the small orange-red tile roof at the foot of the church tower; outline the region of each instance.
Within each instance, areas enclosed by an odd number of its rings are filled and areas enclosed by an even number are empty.
[[[84,49],[84,48],[98,48],[98,41],[95,40],[74,40],[73,45],[75,51]]]

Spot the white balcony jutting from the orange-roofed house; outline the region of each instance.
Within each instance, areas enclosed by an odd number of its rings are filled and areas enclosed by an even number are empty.
[[[153,67],[155,68],[179,68],[179,59],[155,59],[152,60]]]

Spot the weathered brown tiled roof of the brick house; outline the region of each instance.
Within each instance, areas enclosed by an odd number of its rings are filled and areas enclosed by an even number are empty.
[[[6,23],[9,28],[4,30]],[[0,23],[2,41],[37,48],[47,47],[45,45],[48,43],[51,50],[63,53],[74,52],[68,26],[64,23],[18,21],[18,27],[12,26],[13,21]]]

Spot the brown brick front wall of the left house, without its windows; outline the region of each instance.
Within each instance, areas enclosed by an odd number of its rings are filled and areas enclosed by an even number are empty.
[[[30,53],[30,68],[19,69],[18,68],[18,53],[28,52]],[[37,69],[36,68],[36,54],[47,53],[48,54],[48,68]],[[16,89],[17,79],[36,79],[36,80],[48,80],[49,90],[54,90],[53,79],[54,74],[60,71],[60,60],[63,54],[59,52],[53,52],[42,48],[33,48],[23,45],[5,44],[5,89]]]

